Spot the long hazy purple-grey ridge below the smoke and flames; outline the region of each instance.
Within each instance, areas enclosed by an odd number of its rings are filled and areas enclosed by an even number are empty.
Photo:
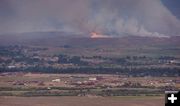
[[[115,37],[115,38],[90,38],[67,34],[64,32],[35,32],[22,34],[0,35],[0,45],[39,45],[71,47],[134,47],[134,46],[177,46],[180,47],[180,36],[170,38],[158,37]]]

